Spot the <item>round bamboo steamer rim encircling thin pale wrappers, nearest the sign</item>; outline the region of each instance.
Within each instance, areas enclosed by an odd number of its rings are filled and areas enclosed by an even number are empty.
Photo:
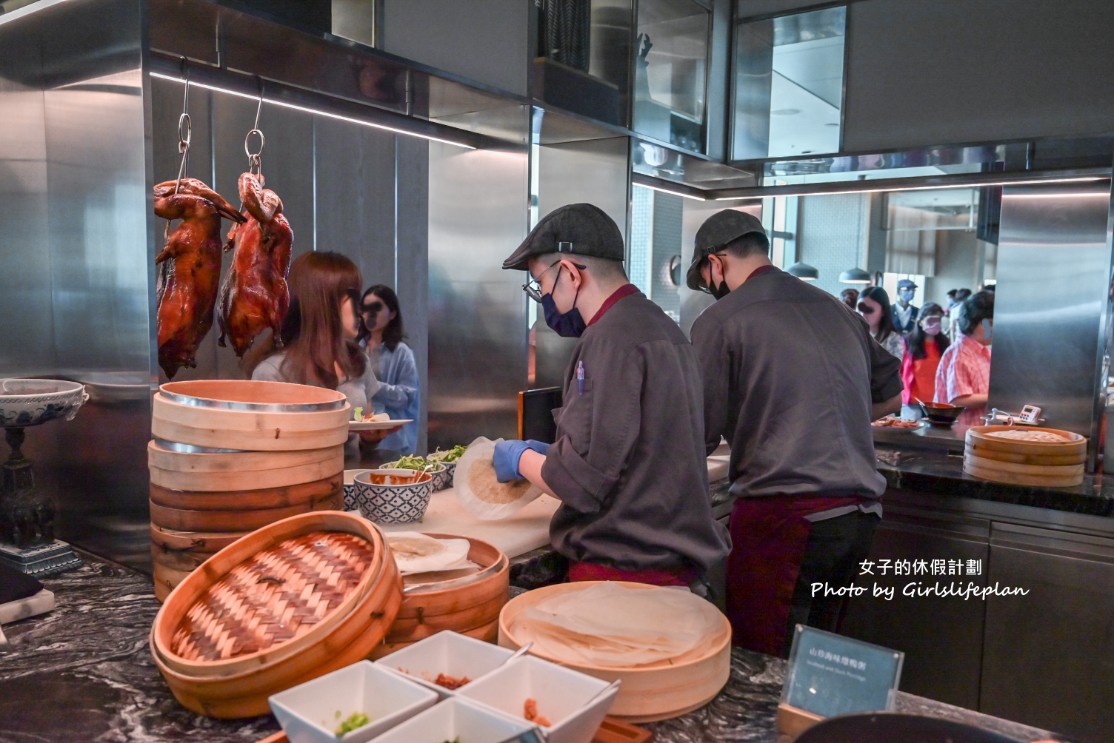
[[[522,642],[515,637],[511,627],[524,609],[549,597],[583,590],[598,583],[585,580],[545,586],[510,599],[499,614],[499,645],[512,649],[522,646]],[[655,588],[624,580],[613,583],[635,589]],[[695,596],[693,598],[704,600]],[[632,723],[668,720],[704,706],[727,683],[731,675],[731,624],[727,617],[720,615],[720,618],[722,622],[719,629],[705,637],[694,652],[686,653],[685,658],[680,661],[666,659],[633,668],[614,668],[569,663],[532,649],[530,652],[596,678],[607,682],[620,680],[619,692],[608,712],[610,716]]]

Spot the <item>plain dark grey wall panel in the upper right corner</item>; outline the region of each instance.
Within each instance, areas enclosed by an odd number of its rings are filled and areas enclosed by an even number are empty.
[[[848,8],[844,151],[1108,131],[1114,3]]]

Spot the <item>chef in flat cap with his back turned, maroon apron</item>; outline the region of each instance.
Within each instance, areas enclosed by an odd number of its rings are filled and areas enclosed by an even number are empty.
[[[900,364],[861,316],[770,263],[762,223],[717,212],[696,232],[690,289],[716,302],[692,329],[711,452],[731,443],[736,497],[726,614],[732,641],[784,655],[797,624],[834,630],[866,559],[886,480],[870,421],[900,408]]]

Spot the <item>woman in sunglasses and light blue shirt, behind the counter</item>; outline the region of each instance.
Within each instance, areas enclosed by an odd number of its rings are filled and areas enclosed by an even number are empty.
[[[399,297],[390,286],[368,287],[360,301],[359,343],[368,351],[379,378],[379,391],[372,398],[377,412],[391,418],[409,418],[402,430],[383,439],[381,452],[412,454],[418,446],[418,413],[421,399],[418,391],[418,364],[414,352],[402,342],[402,311]]]

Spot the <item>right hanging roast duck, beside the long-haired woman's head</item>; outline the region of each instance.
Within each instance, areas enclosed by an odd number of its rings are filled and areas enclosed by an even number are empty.
[[[280,330],[290,305],[286,273],[294,233],[282,213],[282,199],[264,188],[261,173],[240,176],[243,212],[228,231],[226,251],[233,251],[232,267],[221,286],[221,338],[232,342],[237,356],[256,336],[271,329],[275,348],[282,346]]]

